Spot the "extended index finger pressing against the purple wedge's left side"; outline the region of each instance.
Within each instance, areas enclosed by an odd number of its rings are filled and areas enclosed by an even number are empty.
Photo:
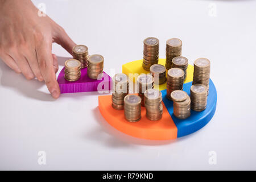
[[[51,43],[47,44],[44,42],[36,47],[36,56],[38,57],[39,68],[49,92],[53,98],[58,98],[60,96],[60,88],[53,68]]]

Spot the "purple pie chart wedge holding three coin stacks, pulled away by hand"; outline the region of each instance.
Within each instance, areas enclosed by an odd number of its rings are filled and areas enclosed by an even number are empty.
[[[87,75],[87,68],[81,69],[81,77],[77,81],[67,81],[64,78],[65,67],[60,71],[57,78],[59,82],[60,93],[76,93],[76,92],[100,92],[104,93],[111,90],[112,78],[106,74],[102,73],[99,80],[93,80]]]

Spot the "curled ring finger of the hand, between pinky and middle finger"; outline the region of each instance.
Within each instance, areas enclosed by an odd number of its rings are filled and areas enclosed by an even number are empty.
[[[11,56],[13,60],[15,60],[15,62],[18,64],[20,71],[22,72],[24,77],[27,78],[27,80],[31,80],[35,77],[34,73],[30,68],[30,65],[27,62],[26,57],[16,51],[11,51],[9,53],[9,56]]]

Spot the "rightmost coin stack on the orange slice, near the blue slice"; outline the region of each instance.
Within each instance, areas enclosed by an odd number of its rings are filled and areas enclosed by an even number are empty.
[[[148,89],[144,92],[146,117],[151,121],[158,121],[162,118],[163,105],[162,93],[156,89]]]

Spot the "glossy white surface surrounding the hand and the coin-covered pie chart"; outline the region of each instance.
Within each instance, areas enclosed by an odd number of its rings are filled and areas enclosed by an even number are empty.
[[[107,73],[141,59],[148,36],[160,40],[162,58],[166,40],[180,38],[190,64],[211,61],[217,110],[194,134],[141,140],[106,123],[97,93],[53,100],[44,84],[1,61],[0,169],[256,169],[255,1],[34,2],[44,2],[47,14],[90,54],[103,55]],[[69,56],[57,45],[53,53]],[[46,151],[46,165],[38,164],[39,151]],[[209,151],[216,151],[216,165],[209,164]]]

